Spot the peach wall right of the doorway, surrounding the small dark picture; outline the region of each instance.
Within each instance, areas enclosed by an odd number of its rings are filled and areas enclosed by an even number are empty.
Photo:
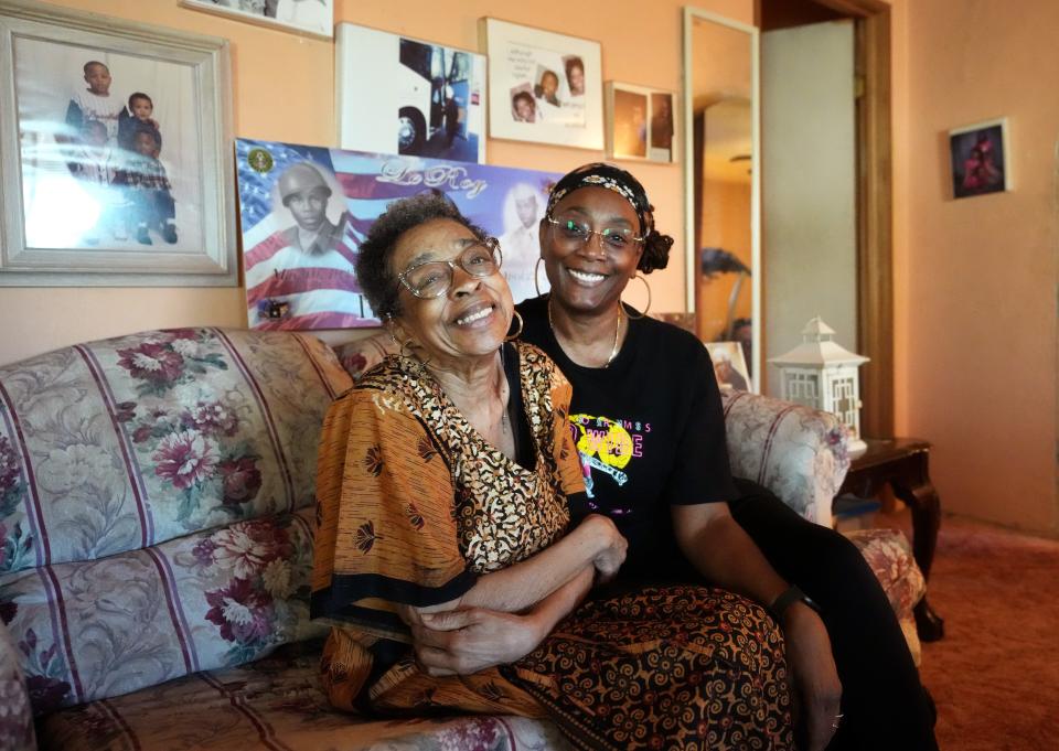
[[[897,425],[942,506],[1059,533],[1059,3],[894,3]],[[1008,193],[953,201],[945,131],[1006,116]]]

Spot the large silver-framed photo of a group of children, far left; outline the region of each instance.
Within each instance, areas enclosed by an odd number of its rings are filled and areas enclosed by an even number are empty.
[[[0,285],[238,283],[224,40],[0,4]]]

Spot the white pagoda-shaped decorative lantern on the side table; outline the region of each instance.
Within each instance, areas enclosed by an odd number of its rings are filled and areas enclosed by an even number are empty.
[[[783,398],[835,415],[853,432],[849,453],[868,447],[860,439],[860,379],[868,362],[832,341],[835,330],[817,315],[802,329],[802,343],[769,362],[780,368]]]

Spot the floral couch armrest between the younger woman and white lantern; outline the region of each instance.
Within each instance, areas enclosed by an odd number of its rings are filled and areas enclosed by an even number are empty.
[[[830,527],[832,500],[849,469],[849,433],[838,418],[746,391],[724,393],[721,401],[732,474]]]

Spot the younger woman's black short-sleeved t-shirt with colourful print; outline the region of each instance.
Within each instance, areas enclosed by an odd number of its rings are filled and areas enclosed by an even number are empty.
[[[613,519],[629,540],[623,576],[672,570],[681,556],[670,506],[736,497],[706,347],[676,326],[630,318],[614,362],[581,367],[555,339],[546,297],[517,308],[522,339],[544,350],[574,385],[570,431],[589,491],[586,505],[571,508],[575,519],[588,513]]]

